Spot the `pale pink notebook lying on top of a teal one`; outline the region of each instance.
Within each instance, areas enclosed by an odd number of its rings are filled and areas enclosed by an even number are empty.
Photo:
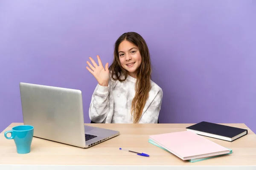
[[[149,139],[183,160],[230,153],[226,147],[191,131],[151,135]]]

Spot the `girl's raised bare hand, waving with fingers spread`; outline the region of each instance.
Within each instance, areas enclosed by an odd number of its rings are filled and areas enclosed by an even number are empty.
[[[91,60],[93,65],[91,65],[90,62],[87,61],[86,63],[90,66],[90,68],[86,66],[87,70],[91,74],[93,74],[93,76],[98,81],[99,85],[108,86],[108,81],[109,81],[108,62],[106,63],[105,69],[104,69],[98,55],[97,55],[97,59],[98,59],[99,65],[97,65],[96,62],[91,57],[89,57],[89,59]]]

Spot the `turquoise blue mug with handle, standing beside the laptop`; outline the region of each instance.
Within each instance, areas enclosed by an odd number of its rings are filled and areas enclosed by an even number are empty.
[[[11,133],[12,136],[7,137],[7,133]],[[12,127],[12,130],[6,131],[4,136],[6,139],[14,139],[17,153],[29,153],[34,136],[34,127],[30,125],[15,126]]]

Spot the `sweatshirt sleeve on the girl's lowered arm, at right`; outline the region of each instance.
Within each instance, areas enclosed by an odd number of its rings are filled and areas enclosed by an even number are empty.
[[[154,100],[151,102],[151,105],[149,105],[148,109],[141,117],[139,123],[157,123],[158,116],[161,110],[162,99],[163,91],[162,89],[160,89]]]

